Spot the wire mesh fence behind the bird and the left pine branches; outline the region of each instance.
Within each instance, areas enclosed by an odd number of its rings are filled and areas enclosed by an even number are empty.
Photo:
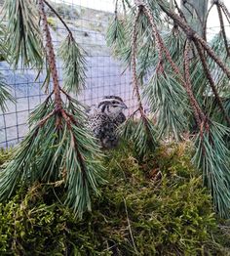
[[[97,10],[89,8],[89,6],[94,7],[90,1],[89,3],[84,1],[85,6],[80,0],[57,0],[50,1],[50,3],[66,21],[76,41],[87,53],[86,89],[78,96],[78,100],[87,106],[92,106],[96,105],[103,96],[120,96],[129,107],[127,110],[129,114],[129,111],[134,108],[131,73],[129,70],[124,72],[124,66],[111,57],[105,41],[105,32],[112,16],[109,12],[112,1],[97,1]],[[48,21],[57,49],[67,33],[62,23],[51,11],[48,11]],[[36,79],[37,73],[33,68],[14,70],[6,62],[1,62],[0,72],[5,76],[17,100],[15,105],[8,104],[7,112],[0,112],[0,148],[7,148],[18,144],[25,136],[28,130],[29,114],[47,97],[42,88],[45,70]],[[61,81],[62,72],[59,61],[58,75]],[[50,88],[52,88],[52,83]]]

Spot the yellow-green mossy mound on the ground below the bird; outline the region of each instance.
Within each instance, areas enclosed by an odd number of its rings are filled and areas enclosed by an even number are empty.
[[[58,186],[22,188],[0,204],[0,255],[227,255],[229,227],[219,228],[185,145],[141,160],[121,147],[105,164],[108,183],[81,221]]]

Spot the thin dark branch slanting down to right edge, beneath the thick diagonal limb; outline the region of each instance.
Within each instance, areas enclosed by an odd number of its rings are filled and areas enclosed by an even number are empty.
[[[218,95],[217,89],[216,89],[216,87],[214,85],[214,81],[213,81],[213,79],[211,77],[211,71],[210,71],[209,66],[208,66],[208,64],[206,62],[206,58],[205,58],[203,49],[202,49],[201,45],[198,42],[195,42],[195,45],[196,45],[199,57],[201,59],[201,62],[203,64],[203,68],[204,68],[205,74],[206,74],[206,76],[207,76],[207,78],[208,78],[208,80],[210,82],[211,90],[212,90],[212,92],[213,92],[213,94],[215,96],[217,105],[220,108],[220,110],[223,112],[224,117],[225,117],[227,123],[230,125],[230,118],[228,116],[228,113],[227,113],[226,109],[223,107],[222,101],[221,101],[221,99],[220,99],[220,97]]]

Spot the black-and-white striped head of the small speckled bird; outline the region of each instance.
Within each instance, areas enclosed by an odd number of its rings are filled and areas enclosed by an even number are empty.
[[[123,109],[128,108],[123,100],[118,96],[105,96],[98,104],[100,112],[104,112],[108,115],[117,116]]]

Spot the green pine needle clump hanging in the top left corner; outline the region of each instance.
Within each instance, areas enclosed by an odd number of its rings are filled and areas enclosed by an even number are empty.
[[[34,1],[5,1],[4,16],[7,20],[7,47],[9,62],[16,67],[43,66],[42,37],[39,28],[38,10]]]

